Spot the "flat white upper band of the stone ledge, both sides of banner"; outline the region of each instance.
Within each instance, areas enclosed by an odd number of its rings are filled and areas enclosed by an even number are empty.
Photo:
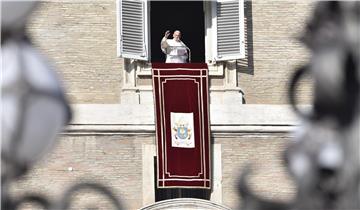
[[[73,104],[71,107],[74,111],[72,125],[154,124],[152,104]],[[270,104],[210,104],[210,121],[211,125],[298,124],[289,105]]]

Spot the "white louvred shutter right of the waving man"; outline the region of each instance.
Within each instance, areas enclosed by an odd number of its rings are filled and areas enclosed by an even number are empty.
[[[217,0],[213,3],[215,60],[245,58],[244,1]]]

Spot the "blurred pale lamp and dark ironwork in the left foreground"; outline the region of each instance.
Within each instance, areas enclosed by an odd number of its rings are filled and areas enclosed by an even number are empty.
[[[28,17],[38,4],[1,1],[1,209],[20,209],[25,204],[70,209],[80,191],[103,195],[115,209],[122,209],[110,188],[92,181],[75,183],[56,200],[37,192],[11,193],[14,182],[51,151],[56,135],[72,117],[53,65],[26,33]]]

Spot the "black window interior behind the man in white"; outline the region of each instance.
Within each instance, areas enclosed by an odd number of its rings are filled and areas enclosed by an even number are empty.
[[[182,41],[191,50],[191,62],[205,62],[205,29],[202,1],[150,2],[151,62],[165,62],[160,41],[165,31],[180,30]]]

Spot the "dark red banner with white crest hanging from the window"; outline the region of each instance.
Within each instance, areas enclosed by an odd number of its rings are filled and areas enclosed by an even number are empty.
[[[208,69],[153,63],[159,188],[211,187]]]

